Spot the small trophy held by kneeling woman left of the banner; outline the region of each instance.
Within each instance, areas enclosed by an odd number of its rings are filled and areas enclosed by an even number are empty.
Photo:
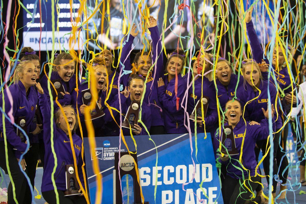
[[[74,165],[66,165],[66,191],[64,196],[80,195],[80,187],[76,180],[76,172],[74,171]]]

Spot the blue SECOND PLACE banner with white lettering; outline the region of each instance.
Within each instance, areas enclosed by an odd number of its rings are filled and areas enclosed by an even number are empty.
[[[203,133],[197,137],[189,134],[151,135],[154,144],[148,135],[134,136],[145,201],[162,204],[223,203],[211,137],[209,134],[206,139],[204,137]],[[96,194],[92,160],[98,159],[103,176],[102,203],[112,204],[114,153],[119,151],[119,137],[97,137],[95,140],[97,148],[90,149],[88,138],[84,138],[91,203],[95,203]],[[130,151],[136,151],[131,137],[125,136],[125,141]],[[122,140],[121,151],[127,151]],[[121,185],[125,203],[133,203],[131,176],[123,176]]]

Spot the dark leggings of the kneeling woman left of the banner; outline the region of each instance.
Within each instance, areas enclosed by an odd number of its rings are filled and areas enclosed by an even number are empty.
[[[86,204],[86,199],[84,196],[71,195],[64,196],[64,191],[58,191],[58,199],[60,204]],[[54,190],[41,192],[43,198],[48,204],[56,204],[56,195]]]

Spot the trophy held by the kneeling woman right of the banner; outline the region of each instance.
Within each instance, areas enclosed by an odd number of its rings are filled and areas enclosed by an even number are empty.
[[[237,154],[239,154],[239,152],[236,148],[233,127],[231,125],[224,125],[224,131],[222,133],[221,142],[223,144],[221,146],[221,153],[223,153],[225,155],[237,155]],[[219,153],[219,155],[221,155],[221,153]]]

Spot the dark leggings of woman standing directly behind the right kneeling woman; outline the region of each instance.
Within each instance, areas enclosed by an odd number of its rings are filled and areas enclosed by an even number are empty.
[[[279,136],[280,136],[280,133],[278,132],[278,133],[274,134],[274,138],[273,138],[273,144],[274,144],[274,148],[273,148],[273,175],[277,175],[277,172],[278,172],[278,165],[277,165],[277,162],[276,162],[276,153],[278,151]],[[268,143],[268,145],[267,145],[267,143]],[[265,139],[265,140],[257,141],[256,144],[257,144],[257,147],[259,147],[259,148],[255,147],[255,155],[256,155],[256,158],[258,159],[260,149],[263,152],[263,155],[266,154],[266,146],[269,147],[270,142],[269,142],[268,139]],[[270,148],[270,150],[271,150],[271,148]],[[269,175],[269,173],[270,173],[270,150],[269,150],[267,156],[263,159],[263,170],[265,172],[268,184],[269,184],[269,177],[267,175]],[[258,162],[258,160],[257,160],[257,162]],[[272,193],[275,193],[276,192],[276,187],[277,187],[277,181],[274,178],[272,178],[272,185],[273,185]],[[260,191],[259,187],[256,189],[256,191]]]

